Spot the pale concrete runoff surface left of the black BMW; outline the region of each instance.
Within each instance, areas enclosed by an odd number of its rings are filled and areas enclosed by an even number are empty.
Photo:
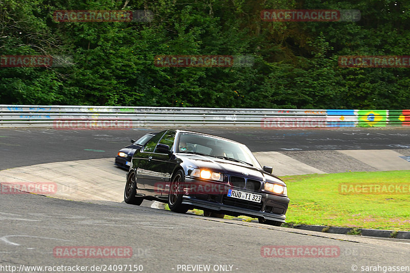
[[[38,164],[0,171],[0,183],[55,183],[51,197],[74,201],[124,201],[126,172],[112,158]]]

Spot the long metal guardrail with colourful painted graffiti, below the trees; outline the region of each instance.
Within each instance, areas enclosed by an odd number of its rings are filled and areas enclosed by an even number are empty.
[[[122,121],[127,123],[127,128],[147,126],[261,127],[264,129],[293,127],[410,127],[410,110],[94,107],[0,104],[0,128],[55,128],[56,124],[61,125],[62,120],[77,123],[92,121],[91,123],[94,122],[95,124],[97,124],[96,121],[102,123]],[[93,128],[98,129],[98,125]]]

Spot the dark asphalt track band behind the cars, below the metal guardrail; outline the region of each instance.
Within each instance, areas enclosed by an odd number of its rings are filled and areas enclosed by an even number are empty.
[[[40,163],[111,158],[148,132],[133,130],[1,129],[0,170]],[[410,149],[410,128],[294,129],[189,128],[246,144],[252,152]]]

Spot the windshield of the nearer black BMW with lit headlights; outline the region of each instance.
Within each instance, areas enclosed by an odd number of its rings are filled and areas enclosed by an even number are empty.
[[[200,153],[203,155],[243,162],[261,168],[259,162],[247,146],[214,136],[195,133],[180,133],[177,152]]]

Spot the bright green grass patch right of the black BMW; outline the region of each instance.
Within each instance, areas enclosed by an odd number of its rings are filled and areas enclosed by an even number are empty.
[[[291,199],[286,222],[410,230],[410,193],[339,194],[340,183],[403,183],[410,171],[314,174],[281,177]]]

